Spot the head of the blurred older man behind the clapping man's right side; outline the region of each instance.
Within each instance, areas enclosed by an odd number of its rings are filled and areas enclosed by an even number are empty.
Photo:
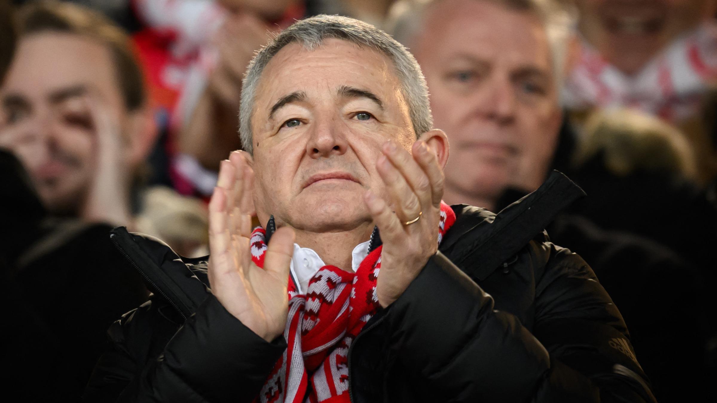
[[[491,37],[497,31],[480,9],[497,6],[480,1],[433,3],[396,4],[391,16],[394,37],[419,61],[430,89],[435,127],[450,138],[445,199],[495,209],[505,188],[533,191],[549,172],[562,121],[555,81],[567,31],[555,24],[550,41],[545,34],[537,40],[528,29],[528,23],[536,25],[531,19],[503,12],[501,22],[526,28]],[[515,8],[531,7],[531,1],[513,3]],[[428,15],[440,17],[417,24],[424,7],[435,8]],[[550,11],[546,9],[546,18]],[[556,9],[551,18],[559,21],[565,16]]]

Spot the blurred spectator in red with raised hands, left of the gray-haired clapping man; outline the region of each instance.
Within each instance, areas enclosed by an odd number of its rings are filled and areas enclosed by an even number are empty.
[[[270,32],[305,12],[300,0],[133,0],[133,35],[153,108],[166,128],[171,184],[208,195],[219,161],[241,148],[237,110],[247,64]]]

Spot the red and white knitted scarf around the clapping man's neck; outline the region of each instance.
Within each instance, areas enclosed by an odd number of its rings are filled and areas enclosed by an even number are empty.
[[[441,202],[438,243],[455,222]],[[252,260],[264,265],[265,230],[252,232]],[[348,348],[379,308],[376,278],[381,250],[367,255],[355,273],[326,265],[309,280],[306,294],[289,280],[288,348],[277,361],[255,402],[348,403]]]

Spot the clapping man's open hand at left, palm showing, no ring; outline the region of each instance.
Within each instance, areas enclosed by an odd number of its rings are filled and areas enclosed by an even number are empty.
[[[288,316],[289,265],[293,229],[272,235],[264,268],[252,262],[251,222],[254,171],[240,151],[222,161],[219,181],[209,202],[209,283],[229,313],[254,333],[272,341],[284,331]]]

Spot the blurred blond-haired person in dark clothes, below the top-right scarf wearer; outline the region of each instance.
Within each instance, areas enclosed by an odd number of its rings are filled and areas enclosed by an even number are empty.
[[[693,148],[675,128],[629,112],[598,113],[587,120],[571,177],[591,195],[571,211],[600,227],[650,237],[703,267],[717,280],[712,245],[717,207],[689,179]],[[679,219],[656,219],[670,213]]]

